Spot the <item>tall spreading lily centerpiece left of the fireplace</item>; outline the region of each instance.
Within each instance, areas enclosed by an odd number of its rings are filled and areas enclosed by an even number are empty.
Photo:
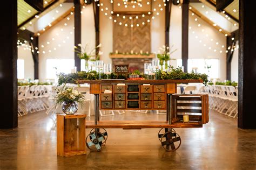
[[[77,56],[81,60],[85,60],[85,69],[88,68],[88,61],[96,61],[99,60],[99,56],[103,54],[103,52],[99,51],[99,53],[96,53],[96,49],[100,48],[102,44],[97,45],[95,48],[87,49],[88,44],[83,46],[82,44],[78,44],[78,46],[74,47],[74,51],[77,52]]]

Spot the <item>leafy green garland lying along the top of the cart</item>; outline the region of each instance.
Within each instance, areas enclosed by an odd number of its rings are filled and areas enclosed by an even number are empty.
[[[107,75],[104,73],[100,74],[102,79],[107,79]],[[144,77],[144,75],[142,75]],[[208,75],[207,74],[200,74],[200,73],[184,73],[182,69],[179,68],[170,68],[170,72],[167,71],[160,71],[157,72],[157,77],[160,80],[203,80],[203,83],[206,85],[208,82]],[[76,83],[78,84],[77,80],[99,80],[99,73],[96,71],[90,72],[78,72],[78,73],[71,73],[71,74],[64,74],[60,73],[58,75],[58,84],[61,85],[63,83]],[[111,73],[109,75],[109,79],[128,79],[129,74],[114,74]]]

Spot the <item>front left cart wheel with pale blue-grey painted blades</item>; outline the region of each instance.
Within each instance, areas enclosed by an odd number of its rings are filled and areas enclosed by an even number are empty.
[[[86,146],[91,151],[100,151],[106,144],[106,139],[103,133],[93,131],[85,139]]]

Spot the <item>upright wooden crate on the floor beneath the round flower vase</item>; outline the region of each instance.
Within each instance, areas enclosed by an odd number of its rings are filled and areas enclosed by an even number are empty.
[[[86,154],[86,115],[57,115],[57,155],[69,157]]]

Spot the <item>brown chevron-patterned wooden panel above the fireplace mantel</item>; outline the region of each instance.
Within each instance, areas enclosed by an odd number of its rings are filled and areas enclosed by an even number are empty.
[[[139,16],[136,19],[136,16]],[[129,19],[132,17],[132,19]],[[151,52],[151,36],[150,36],[150,23],[147,23],[147,19],[150,16],[145,15],[123,15],[114,17],[117,22],[113,22],[113,52],[116,50],[119,53],[130,53],[131,50],[134,53],[139,53],[140,50],[145,52]],[[122,22],[122,25],[119,25]],[[142,23],[145,23],[143,25]],[[128,26],[125,26],[127,24]],[[133,27],[131,27],[133,24]],[[139,24],[139,26],[137,26]]]

